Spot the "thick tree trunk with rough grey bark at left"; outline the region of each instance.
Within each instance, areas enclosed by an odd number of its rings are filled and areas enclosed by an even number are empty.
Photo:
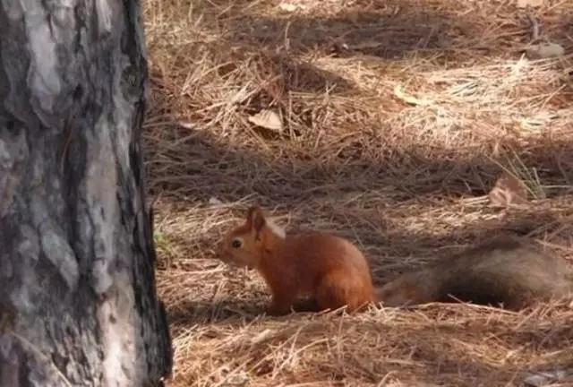
[[[0,3],[0,386],[170,373],[137,0]]]

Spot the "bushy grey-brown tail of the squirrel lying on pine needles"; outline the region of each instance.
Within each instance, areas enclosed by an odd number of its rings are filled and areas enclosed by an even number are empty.
[[[517,237],[494,239],[408,272],[378,290],[384,305],[471,302],[519,309],[567,297],[573,290],[564,259]]]

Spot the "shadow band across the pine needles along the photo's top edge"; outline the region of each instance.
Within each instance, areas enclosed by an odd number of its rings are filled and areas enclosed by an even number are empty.
[[[251,49],[288,50],[293,56],[313,52],[348,57],[372,56],[383,60],[415,56],[441,59],[460,56],[515,57],[532,38],[527,13],[503,4],[492,17],[475,4],[421,4],[417,1],[370,0],[353,4],[304,4],[295,12],[269,16],[260,2],[227,0],[195,2],[193,12],[207,24],[226,31],[224,39]],[[424,6],[425,5],[425,6]],[[268,10],[268,5],[261,4]],[[296,9],[296,8],[295,8]],[[305,11],[310,9],[310,11]],[[566,47],[573,15],[548,11],[541,21],[543,37]],[[492,29],[495,26],[495,30]]]

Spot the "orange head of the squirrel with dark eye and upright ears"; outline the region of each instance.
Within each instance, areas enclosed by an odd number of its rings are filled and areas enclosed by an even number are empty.
[[[264,254],[272,254],[278,238],[285,237],[285,231],[265,218],[261,207],[247,211],[244,224],[232,229],[225,240],[219,259],[236,266],[257,268]]]

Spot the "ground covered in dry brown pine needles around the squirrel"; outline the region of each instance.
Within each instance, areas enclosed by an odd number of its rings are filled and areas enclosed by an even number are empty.
[[[573,364],[573,313],[471,305],[261,315],[215,257],[252,202],[363,248],[377,282],[500,228],[573,258],[573,60],[524,58],[529,16],[573,52],[573,1],[146,0],[158,290],[174,386],[507,386]],[[421,104],[397,97],[397,87]],[[274,108],[285,133],[247,117]],[[484,196],[500,170],[534,200]],[[557,385],[557,384],[556,384]],[[567,385],[567,382],[560,385]],[[573,385],[573,382],[569,382]]]

